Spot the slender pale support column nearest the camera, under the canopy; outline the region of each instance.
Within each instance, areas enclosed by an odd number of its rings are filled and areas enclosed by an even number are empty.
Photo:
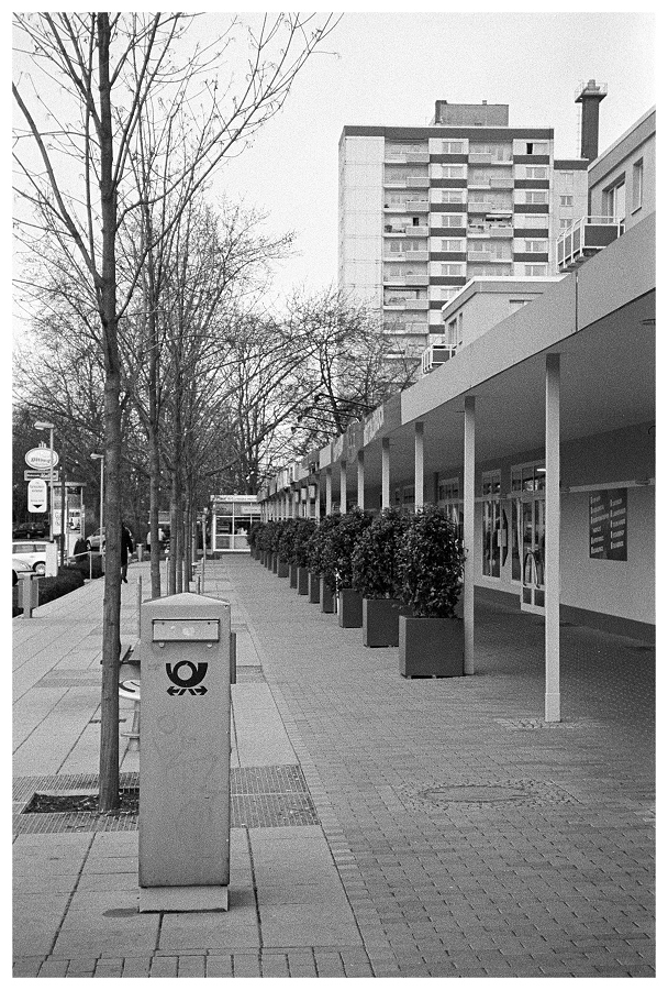
[[[559,689],[559,354],[545,359],[545,721],[561,721]]]

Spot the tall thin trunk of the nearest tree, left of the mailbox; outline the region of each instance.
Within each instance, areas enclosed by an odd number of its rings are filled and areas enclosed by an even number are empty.
[[[100,198],[102,272],[97,286],[104,341],[104,524],[107,573],[102,626],[102,700],[100,708],[101,812],[119,806],[119,659],[121,654],[121,367],[118,346],[115,229],[109,15],[98,13],[100,66]]]

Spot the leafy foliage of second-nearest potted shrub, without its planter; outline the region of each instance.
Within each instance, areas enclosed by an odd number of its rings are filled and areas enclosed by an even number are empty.
[[[398,598],[398,558],[409,519],[387,508],[361,534],[352,559],[353,587],[364,598]]]

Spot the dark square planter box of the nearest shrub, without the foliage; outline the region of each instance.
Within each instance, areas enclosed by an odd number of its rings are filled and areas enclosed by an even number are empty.
[[[464,623],[400,615],[399,673],[403,678],[464,676]]]

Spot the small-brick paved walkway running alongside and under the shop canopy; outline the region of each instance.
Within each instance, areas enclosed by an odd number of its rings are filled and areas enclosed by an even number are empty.
[[[533,616],[487,603],[475,676],[405,681],[287,582],[230,573],[376,976],[654,975],[652,651],[563,628],[548,727]],[[517,781],[531,800],[424,800]]]

